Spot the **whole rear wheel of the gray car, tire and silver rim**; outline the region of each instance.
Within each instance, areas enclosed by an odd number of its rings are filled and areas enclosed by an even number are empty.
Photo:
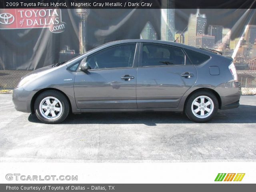
[[[216,96],[209,91],[192,94],[185,104],[185,113],[194,122],[207,122],[218,112],[219,103]]]

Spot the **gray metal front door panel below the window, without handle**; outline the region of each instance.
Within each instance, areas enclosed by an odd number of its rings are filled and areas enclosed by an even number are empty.
[[[95,108],[137,108],[136,68],[88,70],[77,72],[74,92],[77,107]],[[125,75],[131,80],[123,80]]]

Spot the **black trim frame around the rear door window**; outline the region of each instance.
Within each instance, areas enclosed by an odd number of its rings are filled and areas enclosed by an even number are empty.
[[[184,65],[154,65],[154,66],[142,66],[142,54],[143,54],[143,45],[144,44],[153,44],[153,45],[160,45],[160,46],[167,46],[167,47],[173,47],[173,48],[179,48],[183,54],[184,54]],[[162,43],[151,43],[151,42],[141,42],[140,43],[140,54],[139,54],[139,61],[138,61],[138,67],[144,68],[144,67],[171,67],[171,66],[186,66],[186,53],[184,52],[183,48],[178,47],[178,46],[173,46],[173,45],[168,45],[168,44],[162,44]]]

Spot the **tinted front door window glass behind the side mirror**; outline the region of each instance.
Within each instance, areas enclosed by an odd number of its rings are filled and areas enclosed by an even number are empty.
[[[132,67],[136,44],[108,48],[87,58],[92,69]]]

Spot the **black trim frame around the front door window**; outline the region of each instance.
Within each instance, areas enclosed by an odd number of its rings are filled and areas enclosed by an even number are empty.
[[[139,43],[138,43],[138,42],[121,43],[121,44],[116,44],[116,45],[113,45],[113,46],[109,46],[109,47],[104,48],[104,49],[102,49],[102,50],[99,50],[99,51],[97,51],[97,52],[95,52],[95,53],[93,53],[93,54],[90,54],[90,55],[88,55],[88,56],[86,56],[86,57],[84,57],[84,58],[86,58],[86,61],[87,61],[88,57],[90,57],[90,56],[94,56],[94,55],[96,55],[96,54],[98,54],[98,53],[100,53],[100,52],[106,51],[106,50],[108,50],[108,49],[110,49],[110,48],[113,48],[113,47],[122,46],[122,45],[127,45],[127,44],[128,44],[128,45],[135,44],[135,53],[134,53],[134,58],[133,58],[133,64],[132,64],[131,67],[113,67],[113,68],[89,69],[88,71],[136,68],[136,67],[138,66],[138,54],[139,54]],[[83,59],[84,59],[84,58],[83,58]],[[82,59],[82,60],[83,60],[83,59]],[[80,63],[80,64],[81,64],[81,63]],[[81,71],[81,70],[80,70],[80,65],[79,65],[79,67],[78,67],[78,70]]]

